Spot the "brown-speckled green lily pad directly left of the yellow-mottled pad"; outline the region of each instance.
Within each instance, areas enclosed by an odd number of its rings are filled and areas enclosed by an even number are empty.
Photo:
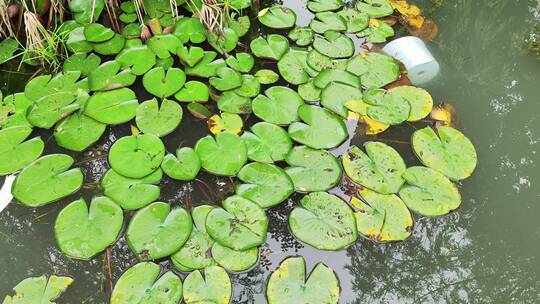
[[[356,241],[356,222],[349,205],[326,192],[310,193],[289,215],[295,237],[320,250],[340,250]]]

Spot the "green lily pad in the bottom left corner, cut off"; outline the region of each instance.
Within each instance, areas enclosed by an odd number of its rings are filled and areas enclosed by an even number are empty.
[[[26,278],[19,282],[13,290],[13,296],[7,295],[2,304],[30,304],[47,303],[56,304],[60,295],[73,283],[70,277],[57,277],[55,275]]]

